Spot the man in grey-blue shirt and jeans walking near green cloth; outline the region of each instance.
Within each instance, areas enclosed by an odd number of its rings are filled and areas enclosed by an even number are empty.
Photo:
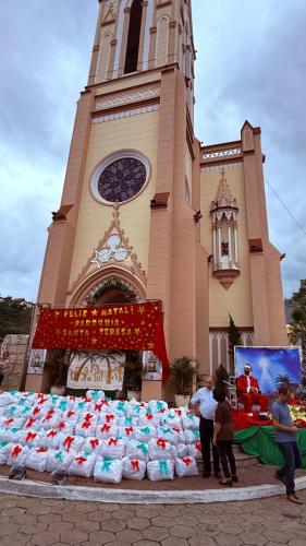
[[[276,441],[284,458],[284,465],[279,468],[274,477],[286,487],[286,498],[295,505],[303,505],[295,494],[294,472],[302,464],[301,452],[296,442],[297,428],[293,425],[287,402],[293,394],[286,385],[281,385],[278,399],[272,403],[272,418],[276,428]]]

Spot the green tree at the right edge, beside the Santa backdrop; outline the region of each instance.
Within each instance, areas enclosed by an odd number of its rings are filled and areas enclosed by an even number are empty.
[[[306,278],[299,281],[299,289],[293,293],[291,302],[294,310],[292,311],[290,337],[292,343],[302,347],[302,373],[301,383],[296,394],[306,400]]]

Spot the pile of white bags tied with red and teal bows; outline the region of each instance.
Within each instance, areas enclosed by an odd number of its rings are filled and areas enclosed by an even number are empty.
[[[13,391],[0,394],[0,464],[118,484],[196,476],[199,420],[163,401],[107,400]]]

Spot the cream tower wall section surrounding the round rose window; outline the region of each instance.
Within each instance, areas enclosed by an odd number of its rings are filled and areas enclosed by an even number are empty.
[[[120,150],[136,150],[147,156],[151,165],[151,177],[145,190],[137,199],[120,207],[121,227],[137,253],[138,261],[145,270],[147,269],[149,202],[156,188],[158,121],[157,111],[91,124],[70,286],[77,278],[112,221],[113,207],[98,203],[91,195],[91,173],[107,155]]]

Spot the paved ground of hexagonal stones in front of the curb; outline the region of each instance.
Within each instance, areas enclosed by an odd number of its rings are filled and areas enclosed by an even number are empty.
[[[0,545],[305,546],[306,491],[299,498],[139,506],[0,495]]]

